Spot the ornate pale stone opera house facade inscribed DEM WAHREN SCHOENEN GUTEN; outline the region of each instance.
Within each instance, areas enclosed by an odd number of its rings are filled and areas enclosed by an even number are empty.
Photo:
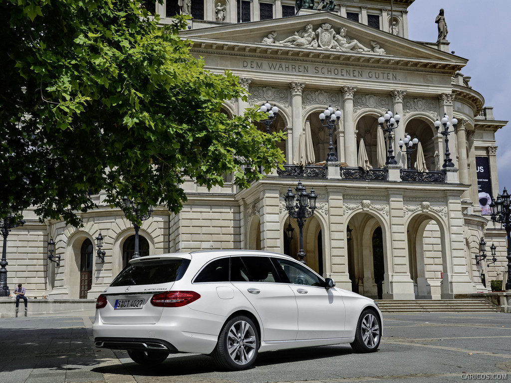
[[[305,260],[341,288],[374,298],[440,299],[485,292],[491,279],[502,278],[505,233],[482,214],[477,167],[479,158],[489,166],[495,198],[495,132],[507,122],[496,121],[470,87],[460,73],[468,60],[450,54],[449,41],[408,39],[412,2],[394,0],[390,9],[390,1],[346,0],[333,11],[302,8],[297,15],[295,2],[285,0],[156,4],[161,23],[172,22],[168,16],[176,12],[191,13],[182,37],[193,41],[192,53],[208,70],[228,68],[240,77],[248,102],[226,100],[222,112],[235,115],[266,101],[279,108],[271,129],[287,136],[281,142],[287,163],[246,190],[228,175],[223,187],[211,190],[185,183],[188,202],[181,212],[159,206],[142,225],[142,255],[246,248],[296,256],[297,225],[283,196],[300,180],[318,195],[304,227]],[[330,105],[342,111],[333,132],[338,162],[325,162],[329,132],[319,114]],[[388,109],[401,116],[393,132],[397,165],[378,159],[378,118]],[[434,127],[444,113],[458,120],[449,136],[451,168],[442,167],[445,139]],[[309,131],[314,163],[296,164],[301,136]],[[427,172],[413,169],[417,151],[407,169],[407,154],[398,145],[405,133],[419,139]],[[362,146],[368,170],[358,167]],[[99,208],[82,215],[83,228],[28,216],[25,226],[12,230],[11,290],[22,282],[32,296],[95,298],[122,270],[134,229],[101,194],[93,198]],[[295,229],[291,239],[289,224]],[[99,232],[104,263],[96,256]],[[476,265],[483,237],[497,246],[492,267]],[[58,267],[47,259],[50,238],[61,255]]]

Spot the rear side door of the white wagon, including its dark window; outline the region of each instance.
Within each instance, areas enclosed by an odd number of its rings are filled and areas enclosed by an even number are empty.
[[[262,340],[294,340],[298,307],[288,284],[280,283],[269,257],[231,257],[230,280],[261,318]]]

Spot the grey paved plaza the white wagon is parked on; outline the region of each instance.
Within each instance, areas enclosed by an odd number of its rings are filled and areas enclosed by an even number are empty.
[[[267,352],[241,372],[190,354],[142,367],[125,351],[95,348],[93,320],[93,310],[0,319],[0,382],[511,382],[511,315],[503,313],[386,314],[376,353],[346,345]]]

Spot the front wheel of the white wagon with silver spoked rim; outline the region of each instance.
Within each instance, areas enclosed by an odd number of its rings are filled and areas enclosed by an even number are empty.
[[[355,352],[375,352],[381,339],[381,322],[378,314],[366,309],[360,315],[355,340],[350,343]]]

